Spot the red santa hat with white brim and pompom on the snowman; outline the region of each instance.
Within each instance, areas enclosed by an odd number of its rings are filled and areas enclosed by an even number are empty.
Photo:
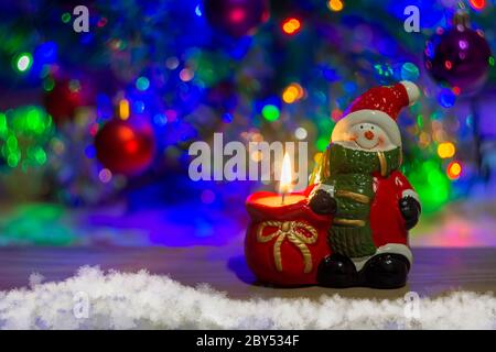
[[[334,127],[331,141],[343,141],[349,129],[357,123],[379,125],[392,144],[401,146],[401,134],[396,123],[400,110],[419,99],[416,84],[403,80],[389,87],[375,87],[355,99],[343,118]]]

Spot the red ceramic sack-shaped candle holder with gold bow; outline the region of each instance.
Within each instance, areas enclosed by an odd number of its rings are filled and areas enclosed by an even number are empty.
[[[332,218],[309,207],[313,186],[284,197],[259,191],[248,197],[250,223],[245,239],[248,266],[260,282],[278,286],[316,284],[322,258],[331,254],[327,230]]]

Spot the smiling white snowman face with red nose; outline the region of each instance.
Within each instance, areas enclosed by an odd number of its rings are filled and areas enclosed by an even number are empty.
[[[356,146],[367,151],[385,151],[392,147],[387,133],[374,123],[357,123],[349,130],[349,140],[355,142]]]

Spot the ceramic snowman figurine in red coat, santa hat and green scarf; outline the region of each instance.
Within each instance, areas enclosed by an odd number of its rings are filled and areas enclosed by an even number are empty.
[[[332,254],[319,265],[320,285],[406,285],[412,265],[408,231],[417,224],[421,207],[399,170],[402,152],[396,119],[419,95],[411,81],[371,88],[336,123],[321,183],[309,202],[314,212],[333,216]]]

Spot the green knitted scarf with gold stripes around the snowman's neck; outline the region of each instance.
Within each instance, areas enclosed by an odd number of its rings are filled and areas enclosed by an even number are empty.
[[[369,221],[374,200],[373,173],[386,177],[400,166],[400,147],[378,153],[330,145],[330,176],[324,184],[334,186],[337,201],[337,212],[328,230],[334,253],[360,257],[376,252]]]

